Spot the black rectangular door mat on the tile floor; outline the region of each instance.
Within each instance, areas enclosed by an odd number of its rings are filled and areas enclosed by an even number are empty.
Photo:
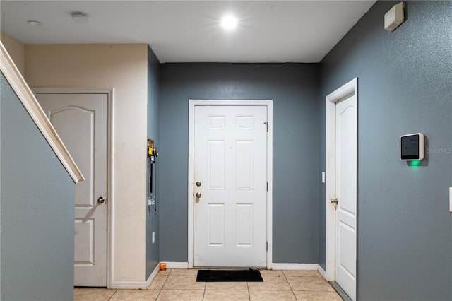
[[[199,270],[197,282],[263,282],[258,270]]]

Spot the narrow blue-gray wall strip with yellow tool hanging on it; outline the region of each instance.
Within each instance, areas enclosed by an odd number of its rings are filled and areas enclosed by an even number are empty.
[[[155,146],[158,146],[158,77],[159,65],[157,57],[148,46],[148,138],[153,139]],[[158,162],[158,159],[157,159]],[[154,165],[153,175],[153,196],[157,194],[158,166]],[[149,172],[146,175],[146,183],[149,183]],[[149,193],[147,184],[146,193]],[[156,198],[158,199],[158,198]],[[145,200],[147,203],[147,199]],[[159,263],[159,227],[157,206],[146,206],[146,278],[153,272]],[[155,232],[155,243],[153,244],[152,234]]]

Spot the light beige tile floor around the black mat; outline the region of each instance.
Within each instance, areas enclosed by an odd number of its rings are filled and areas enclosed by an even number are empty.
[[[196,282],[196,269],[159,271],[148,290],[76,288],[75,301],[342,300],[316,271],[262,270],[263,282]]]

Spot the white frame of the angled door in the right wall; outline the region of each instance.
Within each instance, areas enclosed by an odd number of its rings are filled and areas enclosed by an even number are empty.
[[[333,93],[326,96],[326,280],[335,281],[335,199],[336,165],[336,102],[356,95],[358,102],[358,78],[352,79]]]

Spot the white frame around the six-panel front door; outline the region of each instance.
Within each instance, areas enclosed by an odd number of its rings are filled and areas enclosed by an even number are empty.
[[[194,109],[196,105],[260,105],[267,107],[267,268],[272,268],[273,230],[273,100],[189,100],[189,268],[194,266]]]

